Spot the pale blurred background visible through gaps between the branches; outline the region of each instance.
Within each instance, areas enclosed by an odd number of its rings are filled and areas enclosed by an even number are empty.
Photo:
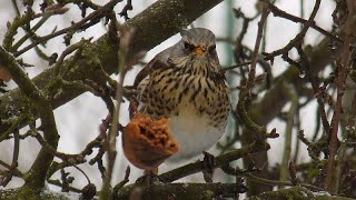
[[[96,0],[93,1],[99,4],[103,4],[106,1],[102,0]],[[136,14],[140,13],[142,10],[145,10],[147,7],[149,7],[155,1],[147,0],[147,1],[132,1],[134,10],[129,11],[129,17],[134,18]],[[301,0],[277,0],[276,6],[284,11],[295,14],[295,16],[303,16],[305,19],[307,19],[313,10],[314,1],[304,1],[304,4],[300,3]],[[19,6],[19,11],[23,12],[23,6],[20,1],[17,1]],[[34,1],[36,10],[39,10],[40,1]],[[217,52],[220,59],[220,63],[222,67],[229,67],[236,63],[233,57],[233,49],[234,43],[229,42],[234,40],[241,30],[241,23],[243,21],[239,19],[237,20],[234,16],[233,9],[241,9],[241,11],[246,14],[246,17],[253,18],[257,13],[256,8],[257,1],[244,1],[244,0],[226,0],[222,1],[220,4],[201,16],[199,19],[197,19],[191,26],[189,27],[202,27],[210,29],[218,39],[217,43]],[[120,12],[125,3],[119,3],[116,7],[116,12]],[[301,8],[303,6],[303,8]],[[79,21],[80,10],[77,7],[69,7],[70,10],[65,16],[57,16],[50,19],[48,21],[48,24],[43,28],[39,29],[39,34],[41,33],[48,33],[50,32],[55,27],[58,27],[58,29],[67,27],[70,24],[71,21]],[[335,2],[333,0],[323,0],[320,4],[320,9],[318,11],[318,14],[316,17],[316,23],[322,27],[325,30],[332,30],[333,19],[330,13],[335,9]],[[7,1],[0,1],[0,40],[3,39],[6,30],[7,30],[7,22],[12,21],[13,18],[17,16],[16,9],[13,7],[13,1],[7,0]],[[118,17],[119,18],[119,17]],[[250,49],[254,49],[256,34],[257,34],[257,22],[259,18],[255,19],[249,28],[247,29],[247,33],[244,39],[244,44],[249,47]],[[123,18],[119,18],[120,22],[125,22]],[[188,27],[188,28],[189,28]],[[107,28],[103,23],[98,23],[93,26],[92,28],[87,29],[85,32],[75,34],[72,39],[72,43],[79,41],[81,38],[90,38],[93,37],[93,39],[99,38],[106,32]],[[300,30],[300,24],[294,23],[291,21],[281,19],[281,18],[275,18],[273,14],[269,14],[268,17],[268,23],[266,27],[266,47],[265,51],[270,52],[273,50],[276,50],[278,48],[281,48],[286,46],[289,40],[291,40]],[[19,32],[19,36],[22,33]],[[305,38],[305,44],[316,44],[322,40],[322,34],[319,32],[314,31],[313,29],[309,29],[306,38]],[[176,34],[171,37],[170,39],[166,40],[161,44],[157,46],[156,48],[148,51],[147,56],[144,59],[144,62],[148,62],[150,59],[152,59],[158,52],[161,50],[172,46],[175,42],[177,42],[180,39],[179,34]],[[46,48],[42,48],[47,54],[51,54],[55,52],[60,53],[66,49],[66,46],[63,44],[63,40],[61,37],[50,40],[47,43]],[[291,51],[290,57],[297,57],[297,53]],[[28,51],[27,53],[22,54],[21,58],[30,64],[33,64],[33,68],[28,68],[28,73],[30,77],[34,77],[44,69],[49,68],[48,62],[40,59],[38,56],[36,56],[34,50]],[[273,64],[273,74],[274,77],[280,74],[286,68],[288,67],[288,63],[283,61],[280,57],[276,58]],[[127,86],[132,84],[136,74],[140,71],[142,68],[142,64],[136,66],[127,76],[126,83]],[[257,73],[260,74],[263,71],[258,69]],[[113,76],[115,77],[115,76]],[[237,87],[239,86],[238,79],[234,78],[234,76],[229,76],[229,84],[230,87]],[[7,89],[13,89],[17,86],[11,81],[8,83]],[[258,97],[263,97],[264,93],[259,93]],[[234,104],[237,102],[237,90],[234,92]],[[120,113],[120,123],[127,124],[129,121],[128,118],[128,103],[123,103]],[[289,109],[289,104],[285,107],[285,110]],[[316,102],[310,102],[308,106],[304,107],[300,110],[300,116],[303,117],[300,121],[300,128],[307,129],[307,130],[314,130],[315,127],[315,110],[316,110]],[[95,97],[93,94],[87,92],[81,94],[80,97],[76,98],[75,100],[70,101],[69,103],[58,108],[55,110],[56,120],[58,130],[60,133],[60,140],[59,140],[59,151],[65,153],[78,153],[80,152],[86,144],[95,139],[99,131],[98,126],[101,123],[101,119],[105,119],[107,116],[107,109],[105,103],[100,100],[100,98]],[[261,113],[263,114],[263,113]],[[231,121],[231,120],[230,120]],[[268,166],[273,167],[275,164],[280,163],[283,158],[283,150],[284,150],[284,130],[285,130],[285,122],[281,122],[276,118],[274,121],[271,121],[267,129],[271,130],[273,128],[277,129],[277,132],[280,133],[279,138],[277,139],[269,139],[268,142],[271,144],[271,149],[268,151]],[[22,129],[21,131],[26,131],[27,129]],[[226,140],[226,137],[231,136],[234,133],[234,126],[229,123],[229,127],[225,133],[225,137],[220,139],[220,142],[224,143]],[[306,131],[306,137],[312,137],[312,131]],[[296,137],[294,137],[294,140],[296,140]],[[291,146],[291,152],[295,153],[295,141],[293,141]],[[3,161],[11,162],[12,157],[12,141],[1,142],[0,143],[0,159]],[[36,158],[38,151],[39,151],[39,144],[33,139],[27,139],[21,142],[20,147],[20,158],[19,158],[19,169],[24,171],[29,169],[31,163],[33,162],[33,159]],[[236,143],[234,146],[235,148],[239,148],[240,144]],[[115,169],[115,176],[113,176],[113,182],[118,182],[123,179],[125,170],[127,166],[130,166],[130,163],[126,160],[126,158],[122,154],[121,143],[120,143],[120,137],[119,142],[117,143],[117,150],[118,150],[118,157],[116,161],[116,169]],[[306,146],[300,143],[300,147],[298,149],[298,162],[306,162],[309,160],[309,157],[306,151]],[[220,150],[218,148],[212,148],[209,150],[212,154],[219,154]],[[95,154],[95,153],[92,153]],[[196,159],[201,159],[201,157],[198,157]],[[195,160],[196,160],[195,159]],[[190,160],[188,162],[195,161]],[[187,163],[187,162],[186,162]],[[185,163],[179,163],[179,166],[182,166]],[[241,164],[240,161],[237,161],[236,164]],[[176,168],[177,166],[169,166],[169,164],[162,164],[160,168],[160,172],[167,171],[170,169]],[[1,167],[0,167],[1,168]],[[89,166],[89,164],[81,164],[80,168],[90,176],[91,182],[93,182],[98,188],[101,186],[101,177],[98,172],[98,169],[96,166]],[[67,168],[66,171],[72,172],[71,176],[76,177],[73,187],[82,188],[87,181],[83,179],[82,174],[78,172],[78,170],[73,168]],[[130,174],[130,182],[136,181],[136,179],[142,174],[142,171],[131,167],[131,174]],[[57,178],[60,176],[59,173],[56,174]],[[55,176],[55,178],[56,178]],[[190,176],[185,178],[185,180],[181,181],[202,181],[201,173]],[[214,177],[215,181],[230,181],[230,178],[224,176],[218,170],[215,173]],[[18,187],[21,186],[20,179],[13,179],[7,188]],[[52,187],[53,189],[59,190],[59,188]]]

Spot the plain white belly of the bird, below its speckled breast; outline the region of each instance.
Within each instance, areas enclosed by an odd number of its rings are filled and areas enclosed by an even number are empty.
[[[168,161],[179,161],[200,154],[211,148],[224,134],[209,123],[206,114],[198,116],[192,106],[179,110],[178,116],[171,116],[169,128],[179,142],[179,151]]]

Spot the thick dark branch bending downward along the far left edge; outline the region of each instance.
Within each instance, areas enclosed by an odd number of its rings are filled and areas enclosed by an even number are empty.
[[[58,132],[56,128],[55,116],[50,102],[44,98],[28,76],[22,71],[14,58],[0,47],[0,64],[3,66],[11,74],[20,90],[31,101],[41,119],[41,128],[46,141],[55,149],[58,144]],[[24,177],[26,187],[40,189],[44,187],[47,170],[53,160],[53,154],[41,148],[30,171]]]

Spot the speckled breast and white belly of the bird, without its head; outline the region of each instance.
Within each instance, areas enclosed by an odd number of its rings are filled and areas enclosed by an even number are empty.
[[[144,112],[171,119],[179,151],[170,160],[198,156],[224,134],[229,112],[225,79],[168,68],[156,70],[140,87]]]

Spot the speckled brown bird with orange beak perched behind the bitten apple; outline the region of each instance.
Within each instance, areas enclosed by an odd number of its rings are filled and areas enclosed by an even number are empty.
[[[230,90],[216,51],[216,37],[205,28],[180,32],[181,39],[158,53],[137,74],[138,110],[169,118],[179,150],[168,162],[188,160],[221,138],[230,108]]]

